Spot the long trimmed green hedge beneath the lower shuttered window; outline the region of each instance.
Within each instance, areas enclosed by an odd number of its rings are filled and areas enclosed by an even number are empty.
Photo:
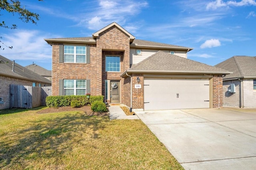
[[[47,96],[46,97],[46,106],[48,107],[64,107],[71,106],[71,102],[78,100],[78,105],[88,106],[91,105],[94,101],[104,100],[104,96],[90,96],[88,99],[86,96]]]

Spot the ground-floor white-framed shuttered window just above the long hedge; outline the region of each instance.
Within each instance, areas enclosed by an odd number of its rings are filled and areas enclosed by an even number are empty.
[[[85,95],[86,80],[64,80],[64,96]]]

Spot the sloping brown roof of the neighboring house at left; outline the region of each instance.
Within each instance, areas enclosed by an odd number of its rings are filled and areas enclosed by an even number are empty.
[[[35,82],[42,82],[45,84],[52,84],[50,80],[36,74],[35,72],[21,66],[17,63],[14,63],[14,71],[12,71],[13,61],[0,55],[0,75],[10,76],[14,78],[20,78],[24,80],[30,80]]]

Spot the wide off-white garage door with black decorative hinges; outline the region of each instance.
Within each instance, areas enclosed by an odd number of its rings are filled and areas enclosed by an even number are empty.
[[[144,110],[209,108],[209,79],[144,78]]]

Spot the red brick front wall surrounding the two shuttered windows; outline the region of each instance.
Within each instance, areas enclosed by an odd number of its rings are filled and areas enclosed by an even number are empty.
[[[72,45],[72,44],[71,44]],[[86,44],[83,44],[86,45]],[[96,45],[90,45],[90,64],[60,63],[59,44],[52,45],[52,96],[59,95],[59,79],[89,79],[90,93],[102,95],[102,60]],[[100,66],[99,66],[100,65]]]

